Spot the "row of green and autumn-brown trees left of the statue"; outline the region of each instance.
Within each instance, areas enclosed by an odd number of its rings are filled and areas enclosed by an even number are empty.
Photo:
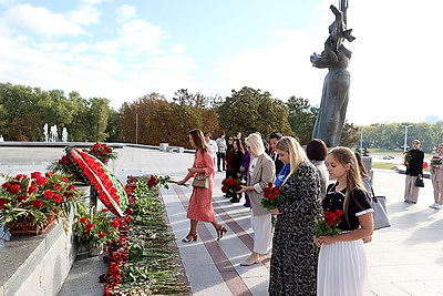
[[[192,129],[228,135],[274,131],[296,135],[301,144],[311,139],[318,108],[303,98],[282,102],[267,91],[245,86],[230,95],[208,96],[177,90],[172,101],[150,93],[125,102],[116,111],[105,98],[84,99],[79,92],[0,83],[0,134],[7,141],[43,141],[43,125],[66,127],[71,142],[130,142],[188,147]],[[61,134],[59,132],[59,134]],[[346,123],[342,145],[359,140],[358,127]]]

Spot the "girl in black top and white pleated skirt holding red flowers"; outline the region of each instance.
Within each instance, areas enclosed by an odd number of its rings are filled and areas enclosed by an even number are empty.
[[[373,232],[372,207],[361,181],[354,153],[336,147],[327,156],[329,175],[337,178],[322,201],[324,211],[343,211],[337,236],[320,236],[317,295],[369,295],[368,264],[363,247]]]

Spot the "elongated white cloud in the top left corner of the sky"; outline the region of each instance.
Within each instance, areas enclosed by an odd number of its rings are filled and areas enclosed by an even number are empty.
[[[85,33],[81,27],[69,21],[63,14],[52,13],[45,8],[35,8],[30,4],[9,9],[4,13],[4,21],[10,28],[22,29],[25,33],[33,32],[45,38]]]

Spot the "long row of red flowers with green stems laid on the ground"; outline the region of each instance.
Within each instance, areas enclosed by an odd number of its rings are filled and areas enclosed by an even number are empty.
[[[150,188],[145,177],[128,176],[125,190],[127,215],[119,220],[119,239],[103,258],[110,264],[100,276],[106,283],[104,295],[188,295],[177,249],[169,246],[174,236],[164,221],[158,186]]]

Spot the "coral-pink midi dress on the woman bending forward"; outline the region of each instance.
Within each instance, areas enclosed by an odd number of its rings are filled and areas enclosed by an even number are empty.
[[[209,152],[196,152],[193,169],[205,169],[209,176],[209,188],[194,187],[187,207],[187,217],[195,221],[213,222],[215,220],[213,208],[213,187],[214,187],[214,160]],[[196,173],[188,173],[189,177]]]

